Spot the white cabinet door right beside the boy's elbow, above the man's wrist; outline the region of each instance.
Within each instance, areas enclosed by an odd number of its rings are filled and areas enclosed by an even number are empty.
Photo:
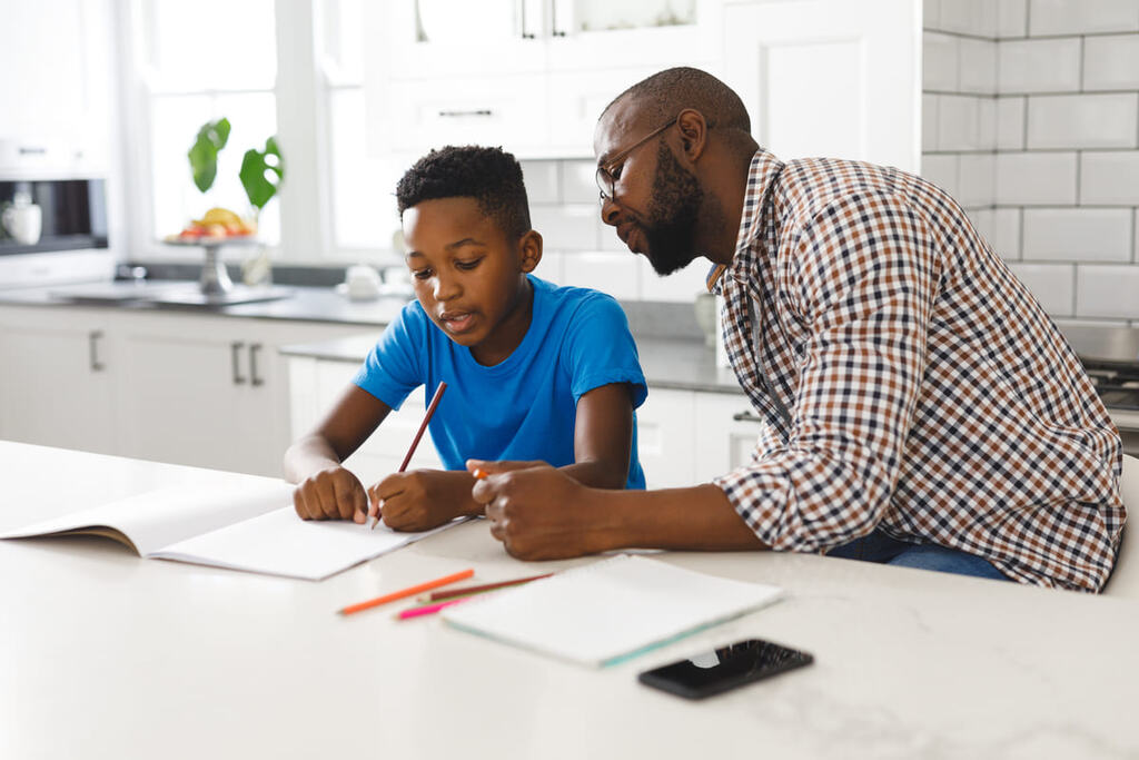
[[[648,488],[696,483],[695,397],[691,391],[649,389],[637,410],[637,448]]]

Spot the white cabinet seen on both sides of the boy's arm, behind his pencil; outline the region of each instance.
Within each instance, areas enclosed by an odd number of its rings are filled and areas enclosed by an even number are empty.
[[[312,431],[352,383],[360,362],[289,357],[289,393],[292,409],[289,439],[296,440]],[[345,461],[364,483],[371,484],[399,471],[408,447],[415,439],[426,412],[426,394],[412,391],[399,410],[393,410],[371,436]],[[431,432],[424,431],[408,469],[442,469]]]

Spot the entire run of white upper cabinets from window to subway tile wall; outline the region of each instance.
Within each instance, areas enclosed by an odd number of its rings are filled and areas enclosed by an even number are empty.
[[[366,3],[371,153],[501,145],[592,156],[593,126],[670,66],[721,76],[761,145],[917,171],[919,0],[392,0]]]

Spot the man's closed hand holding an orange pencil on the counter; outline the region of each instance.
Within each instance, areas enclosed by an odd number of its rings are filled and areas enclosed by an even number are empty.
[[[564,559],[609,548],[599,540],[606,536],[599,524],[605,491],[585,488],[544,461],[470,459],[467,469],[481,471],[472,496],[485,505],[491,536],[511,556]]]

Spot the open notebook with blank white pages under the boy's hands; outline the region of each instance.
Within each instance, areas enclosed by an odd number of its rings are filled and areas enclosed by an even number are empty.
[[[369,530],[344,521],[304,521],[292,505],[293,487],[270,479],[224,488],[165,488],[0,538],[104,536],[142,557],[321,580],[456,524],[398,533],[385,525]]]

